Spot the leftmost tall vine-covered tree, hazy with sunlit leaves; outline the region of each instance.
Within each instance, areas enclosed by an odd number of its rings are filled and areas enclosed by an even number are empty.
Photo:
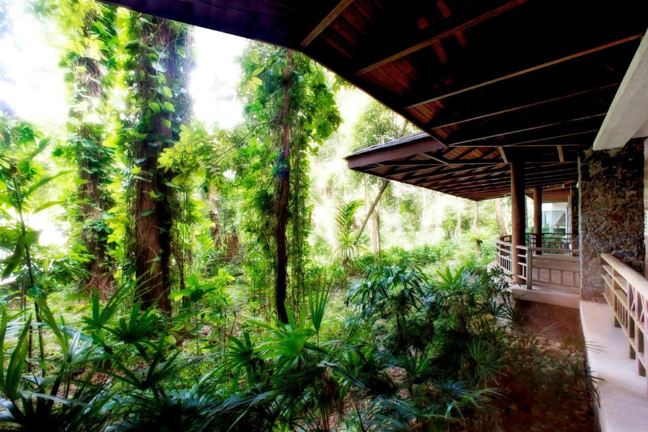
[[[82,243],[87,249],[88,291],[106,298],[113,288],[115,264],[108,243],[108,210],[114,202],[108,191],[113,173],[113,150],[104,145],[109,93],[115,75],[117,45],[113,6],[95,1],[56,0],[47,15],[66,36],[62,63],[70,87],[67,121],[69,147],[78,166],[78,197],[74,200]]]

